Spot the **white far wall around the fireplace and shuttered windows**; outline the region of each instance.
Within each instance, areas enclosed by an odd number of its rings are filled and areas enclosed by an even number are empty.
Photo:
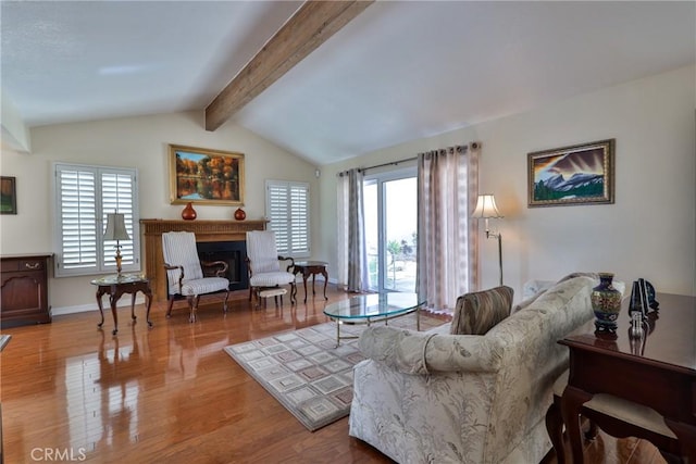
[[[264,215],[265,179],[309,183],[312,217],[319,217],[315,166],[232,123],[214,133],[206,131],[202,111],[36,127],[30,134],[30,154],[4,148],[2,151],[2,175],[16,177],[18,212],[16,216],[0,216],[2,254],[54,250],[50,177],[54,161],[137,167],[140,217],[181,218],[184,205],[170,204],[169,143],[244,153],[244,209],[249,220]],[[199,220],[233,220],[237,209],[195,208]],[[319,247],[319,221],[312,221],[312,246],[315,248]],[[49,297],[54,313],[96,309],[95,288],[89,284],[91,278],[52,278]]]

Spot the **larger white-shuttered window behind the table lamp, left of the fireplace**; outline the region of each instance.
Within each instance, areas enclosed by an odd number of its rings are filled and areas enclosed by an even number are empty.
[[[124,215],[123,271],[140,269],[137,170],[54,164],[55,276],[115,273],[115,241],[103,240],[107,214]]]

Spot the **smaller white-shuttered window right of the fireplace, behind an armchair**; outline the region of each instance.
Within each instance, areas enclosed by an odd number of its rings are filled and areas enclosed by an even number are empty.
[[[275,231],[278,253],[310,255],[309,184],[266,180],[265,215],[269,229]]]

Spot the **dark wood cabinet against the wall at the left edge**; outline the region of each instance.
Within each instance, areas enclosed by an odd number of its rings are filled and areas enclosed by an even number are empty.
[[[52,254],[16,254],[0,258],[0,326],[51,322],[48,271]]]

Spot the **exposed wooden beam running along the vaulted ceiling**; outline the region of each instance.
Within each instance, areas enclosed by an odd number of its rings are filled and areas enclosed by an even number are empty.
[[[206,108],[206,130],[222,126],[373,2],[306,1]]]

